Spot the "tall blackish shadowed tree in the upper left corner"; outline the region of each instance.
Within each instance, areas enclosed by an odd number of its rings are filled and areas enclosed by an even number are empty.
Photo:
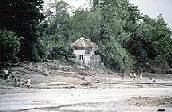
[[[43,0],[1,0],[0,29],[16,32],[21,38],[20,60],[36,61],[39,43],[37,25],[43,20]],[[35,49],[34,49],[35,48]]]

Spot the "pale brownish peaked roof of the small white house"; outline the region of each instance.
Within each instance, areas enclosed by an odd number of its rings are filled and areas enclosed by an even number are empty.
[[[93,48],[93,47],[97,47],[97,45],[94,42],[91,42],[90,39],[85,39],[81,37],[80,39],[72,43],[72,47],[73,48]]]

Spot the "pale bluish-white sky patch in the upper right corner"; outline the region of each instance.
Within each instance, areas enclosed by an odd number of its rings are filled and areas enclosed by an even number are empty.
[[[150,17],[157,17],[159,14],[165,18],[168,25],[172,28],[172,0],[130,0],[138,8]]]

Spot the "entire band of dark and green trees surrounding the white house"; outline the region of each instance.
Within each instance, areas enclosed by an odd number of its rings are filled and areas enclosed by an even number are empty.
[[[1,49],[1,61],[11,56],[21,61],[68,60],[74,57],[71,43],[85,37],[99,46],[97,53],[113,70],[164,72],[172,66],[172,32],[162,15],[152,19],[128,0],[91,0],[91,8],[72,12],[61,0],[49,4],[42,21],[42,3],[2,0],[0,29],[5,31],[0,42],[11,54]]]

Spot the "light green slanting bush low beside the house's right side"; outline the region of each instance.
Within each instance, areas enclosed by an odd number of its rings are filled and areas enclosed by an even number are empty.
[[[115,71],[130,71],[133,69],[134,59],[115,39],[101,45],[99,54],[106,66]]]

